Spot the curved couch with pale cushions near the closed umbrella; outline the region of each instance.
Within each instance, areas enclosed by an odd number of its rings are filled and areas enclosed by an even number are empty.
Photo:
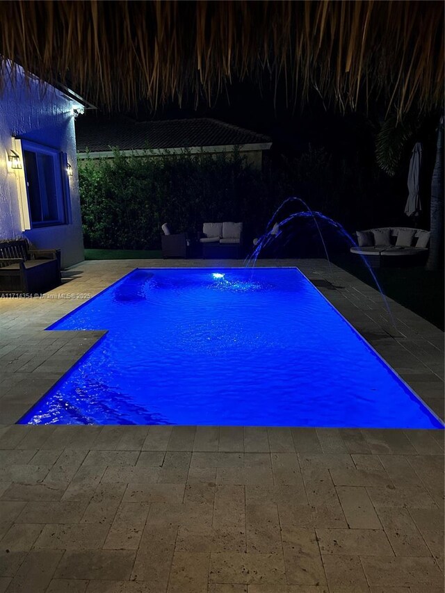
[[[357,231],[357,246],[350,252],[362,257],[373,268],[421,264],[428,257],[430,231],[407,227],[382,227]]]

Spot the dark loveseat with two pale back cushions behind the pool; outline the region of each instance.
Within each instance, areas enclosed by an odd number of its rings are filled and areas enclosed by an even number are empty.
[[[205,259],[237,259],[241,257],[243,223],[204,222],[199,241]]]

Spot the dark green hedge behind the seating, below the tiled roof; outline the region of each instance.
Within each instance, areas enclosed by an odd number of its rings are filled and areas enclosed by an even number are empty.
[[[172,232],[182,232],[198,231],[202,222],[242,221],[246,238],[259,236],[289,195],[339,219],[350,188],[335,189],[341,188],[335,175],[323,148],[309,147],[292,161],[280,157],[262,171],[250,167],[237,151],[210,156],[184,150],[154,157],[149,151],[126,156],[116,149],[114,159],[79,161],[85,246],[159,249],[163,222]],[[355,192],[355,175],[348,170],[340,175]]]

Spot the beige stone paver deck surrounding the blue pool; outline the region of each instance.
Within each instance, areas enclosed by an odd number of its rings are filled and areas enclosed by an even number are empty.
[[[444,592],[443,431],[14,425],[102,335],[43,331],[79,295],[213,263],[87,261],[0,298],[0,593]],[[389,301],[394,330],[324,260],[259,261],[292,265],[443,418],[443,332]]]

